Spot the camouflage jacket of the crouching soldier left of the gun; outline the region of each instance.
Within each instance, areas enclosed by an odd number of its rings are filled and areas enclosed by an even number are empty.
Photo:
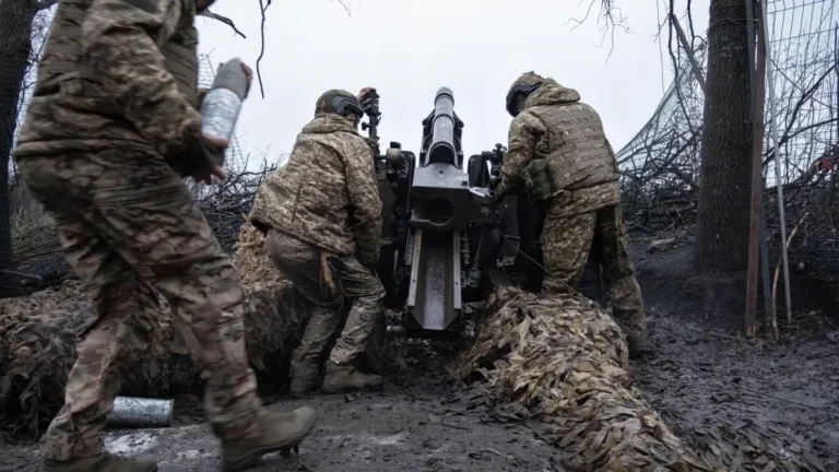
[[[371,155],[350,120],[316,116],[297,135],[288,162],[257,191],[253,225],[377,263],[381,200]]]

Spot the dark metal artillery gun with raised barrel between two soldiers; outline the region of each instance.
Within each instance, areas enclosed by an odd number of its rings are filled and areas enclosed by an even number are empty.
[[[381,114],[375,91],[364,107],[369,122],[363,129],[378,142]],[[401,322],[387,331],[471,339],[470,303],[499,285],[539,291],[542,211],[525,196],[496,198],[506,152],[501,144],[470,156],[464,172],[463,121],[454,113],[451,90],[437,91],[434,110],[422,126],[418,160],[399,142],[390,142],[375,158],[382,201],[378,274],[387,290],[386,306],[402,312]],[[583,293],[602,302],[594,261],[583,280]]]

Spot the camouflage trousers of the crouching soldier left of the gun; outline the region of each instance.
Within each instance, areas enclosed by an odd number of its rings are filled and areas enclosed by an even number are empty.
[[[335,293],[327,295],[322,290],[320,249],[273,229],[268,233],[268,248],[274,264],[311,309],[300,346],[292,356],[293,371],[304,365],[319,365],[338,330],[344,298],[352,307],[329,359],[335,364],[355,361],[382,315],[385,286],[378,276],[353,256],[330,256],[327,262]]]

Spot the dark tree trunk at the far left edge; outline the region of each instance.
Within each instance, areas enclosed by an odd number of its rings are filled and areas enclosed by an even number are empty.
[[[21,84],[32,54],[32,24],[38,4],[35,0],[0,0],[0,296],[14,293],[16,278],[12,248],[9,205],[9,165]]]

